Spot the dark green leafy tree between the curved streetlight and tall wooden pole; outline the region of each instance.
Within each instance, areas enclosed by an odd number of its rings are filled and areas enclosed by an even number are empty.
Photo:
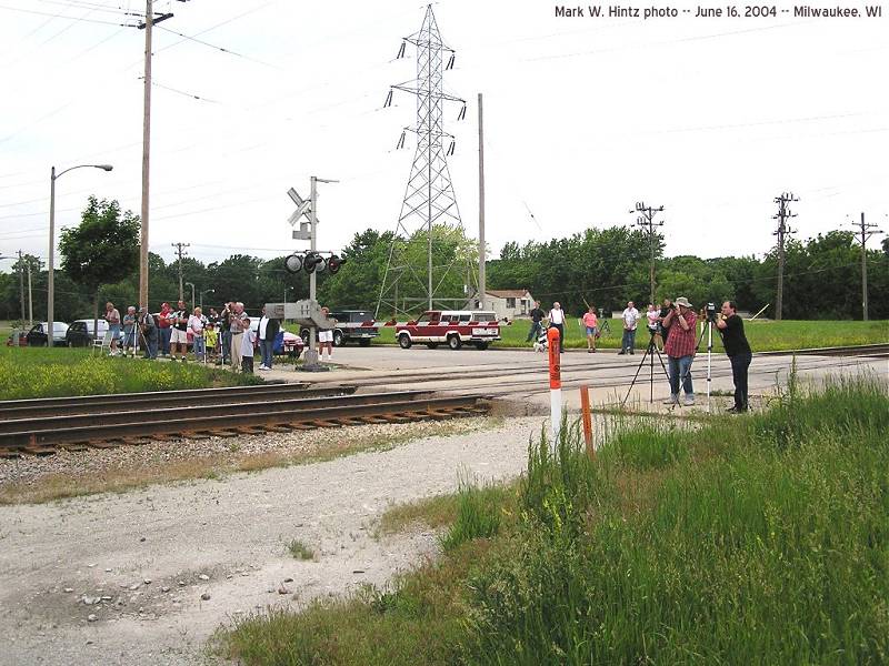
[[[139,265],[139,216],[121,213],[117,201],[90,196],[79,226],[64,229],[59,241],[61,268],[74,284],[96,295],[93,325],[99,319],[99,290],[118,282]]]

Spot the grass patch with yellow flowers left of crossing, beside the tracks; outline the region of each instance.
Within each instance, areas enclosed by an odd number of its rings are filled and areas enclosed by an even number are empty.
[[[100,356],[91,350],[0,347],[0,400],[261,384],[201,363]]]

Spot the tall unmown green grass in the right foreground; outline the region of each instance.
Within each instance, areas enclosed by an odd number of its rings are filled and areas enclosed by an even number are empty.
[[[221,646],[248,665],[886,663],[887,428],[876,380],[625,427],[595,461],[575,428],[531,443],[513,486],[433,500],[443,554],[392,589],[254,616]]]

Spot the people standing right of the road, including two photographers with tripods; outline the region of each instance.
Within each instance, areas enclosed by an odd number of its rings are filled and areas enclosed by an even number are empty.
[[[561,304],[556,301],[552,304],[552,309],[545,313],[540,309],[540,302],[537,301],[530,312],[530,316],[531,329],[528,332],[526,342],[537,340],[543,330],[546,320],[549,326],[559,331],[559,353],[562,353],[566,315]],[[687,297],[679,296],[676,302],[671,299],[665,299],[661,307],[649,303],[645,316],[647,329],[651,335],[650,344],[658,352],[663,352],[667,355],[670,396],[663,401],[665,404],[678,404],[681,387],[685,394],[683,404],[693,405],[695,390],[691,380],[691,363],[698,351],[698,314]],[[642,315],[632,301],[627,303],[627,307],[621,313],[621,320],[623,322],[623,335],[618,355],[635,354],[636,331],[642,320]],[[701,319],[701,321],[705,320]],[[726,301],[722,303],[719,314],[715,314],[710,321],[722,337],[722,346],[731,363],[735,404],[729,408],[729,412],[746,412],[748,410],[748,370],[752,361],[752,352],[743,332],[743,320],[738,315],[737,304],[733,301]],[[581,317],[580,325],[587,334],[587,351],[595,353],[596,342],[600,336],[599,317],[595,306],[588,306],[588,312]]]

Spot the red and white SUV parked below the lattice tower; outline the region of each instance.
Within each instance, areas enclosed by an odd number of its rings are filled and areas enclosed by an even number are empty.
[[[430,350],[446,343],[452,350],[472,344],[487,350],[495,340],[500,340],[497,314],[477,310],[429,310],[419,319],[396,324],[396,339],[402,350],[423,343]]]

